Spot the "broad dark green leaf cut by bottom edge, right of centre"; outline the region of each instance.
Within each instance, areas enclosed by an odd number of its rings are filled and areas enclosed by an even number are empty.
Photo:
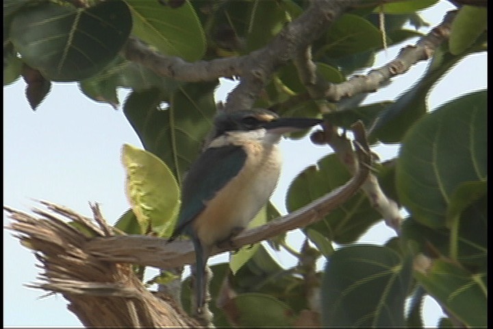
[[[403,327],[410,265],[388,247],[353,245],[336,250],[323,277],[323,326]]]

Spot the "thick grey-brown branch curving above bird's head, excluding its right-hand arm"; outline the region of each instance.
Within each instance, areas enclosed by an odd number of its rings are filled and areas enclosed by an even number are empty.
[[[266,47],[246,56],[188,63],[181,58],[163,56],[136,38],[130,38],[122,52],[125,58],[138,62],[159,75],[184,82],[214,80],[240,75],[240,84],[229,94],[225,110],[249,109],[270,75],[280,65],[296,57],[318,38],[338,16],[362,0],[317,0],[298,18],[283,28]]]

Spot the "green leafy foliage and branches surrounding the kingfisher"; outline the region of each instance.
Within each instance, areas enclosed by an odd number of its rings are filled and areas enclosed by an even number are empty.
[[[279,218],[267,204],[255,228],[235,240],[244,247],[231,263],[211,266],[215,326],[422,327],[425,295],[448,315],[442,326],[487,326],[487,90],[433,111],[428,102],[457,62],[487,51],[487,4],[454,1],[457,10],[423,34],[419,12],[436,2],[5,0],[3,82],[23,77],[33,110],[54,97],[53,82],[77,82],[90,99],[123,108],[144,146],[123,147],[131,208],[102,231],[69,217],[94,240],[93,254],[105,230],[114,230],[105,241],[125,241],[127,254],[118,249],[118,258],[105,245],[101,256],[100,245],[99,257],[133,263],[131,276],[140,280],[146,266],[159,267],[162,275],[144,283],[163,287],[192,261],[189,241],[159,239],[175,226],[181,182],[217,110],[324,119],[311,138],[333,154],[294,178],[290,214]],[[399,55],[375,67],[377,52],[392,45]],[[364,102],[422,61],[427,69],[403,93]],[[218,77],[239,81],[223,104],[214,102]],[[123,102],[118,88],[131,90]],[[401,145],[398,156],[380,162],[370,153],[376,143]],[[354,244],[380,221],[397,236]],[[258,242],[289,250],[286,232],[297,227],[303,247],[290,251],[298,262],[284,269]],[[139,254],[144,241],[161,253]],[[320,257],[327,265],[316,271]],[[189,281],[179,301],[187,312]]]

